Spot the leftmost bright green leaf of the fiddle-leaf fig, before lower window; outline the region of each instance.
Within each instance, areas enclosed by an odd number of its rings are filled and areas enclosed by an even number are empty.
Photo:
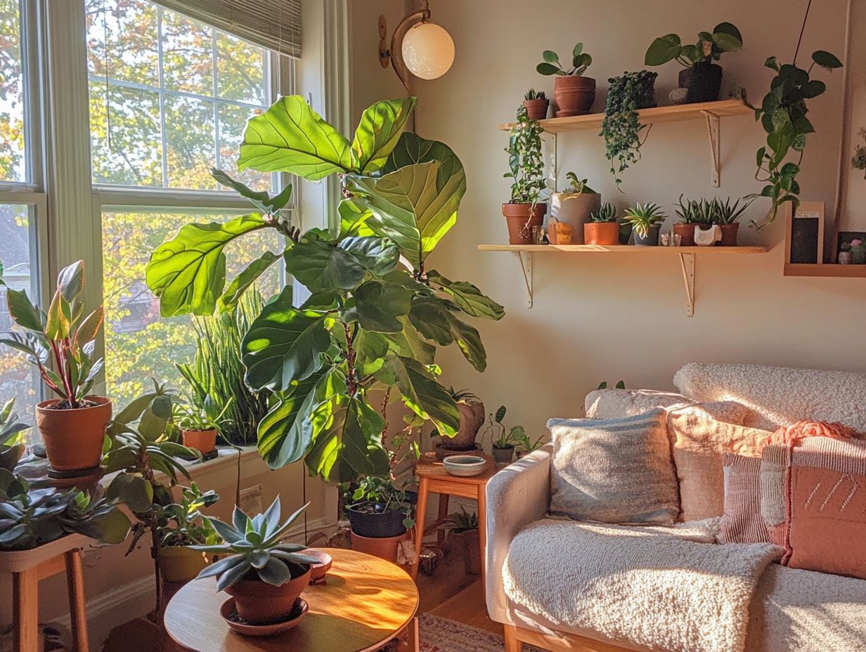
[[[145,269],[147,287],[159,297],[160,314],[213,314],[225,285],[223,249],[236,237],[267,226],[257,214],[182,226],[178,235],[158,246]]]

